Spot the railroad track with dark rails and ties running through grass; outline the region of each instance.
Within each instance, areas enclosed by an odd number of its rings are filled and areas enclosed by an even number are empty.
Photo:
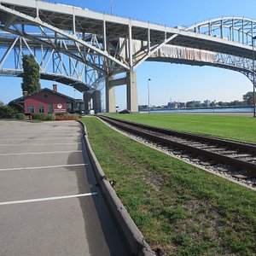
[[[192,162],[200,159],[206,162],[206,166],[218,166],[220,172],[236,172],[234,177],[237,178],[256,177],[256,144],[172,131],[107,116],[99,117],[120,130],[172,148],[174,154],[186,154]]]

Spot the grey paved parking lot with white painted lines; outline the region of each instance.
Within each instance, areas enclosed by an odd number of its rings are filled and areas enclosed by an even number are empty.
[[[0,121],[0,255],[126,255],[74,121]]]

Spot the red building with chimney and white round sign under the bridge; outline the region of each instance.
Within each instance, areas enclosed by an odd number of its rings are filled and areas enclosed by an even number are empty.
[[[57,92],[57,85],[53,90],[44,88],[38,92],[24,96],[9,102],[9,105],[19,108],[20,112],[29,113],[81,113],[84,111],[84,102],[73,99]]]

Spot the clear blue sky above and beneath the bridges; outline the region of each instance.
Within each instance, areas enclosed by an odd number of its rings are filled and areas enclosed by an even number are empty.
[[[97,12],[111,12],[111,0],[55,0],[50,3],[72,4]],[[191,26],[195,23],[224,16],[246,17],[256,20],[255,0],[112,0],[113,15],[142,20],[166,26]],[[150,105],[167,102],[242,100],[242,95],[253,90],[253,84],[241,73],[218,67],[192,67],[181,64],[147,62],[137,67],[138,103]],[[10,102],[21,96],[21,79],[0,77],[0,101]],[[51,89],[53,82],[41,80],[42,88]],[[58,84],[58,90],[67,96],[82,98],[79,91]],[[116,104],[126,108],[125,86],[116,88]],[[102,90],[103,93],[103,90]],[[104,95],[102,96],[105,105]]]

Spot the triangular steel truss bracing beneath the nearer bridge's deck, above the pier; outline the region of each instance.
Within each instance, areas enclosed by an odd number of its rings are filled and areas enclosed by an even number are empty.
[[[58,5],[58,8],[55,7],[53,10],[52,7],[56,6],[55,4],[39,1],[32,3],[24,0],[20,2],[0,2],[0,29],[9,32],[13,37],[22,38],[21,41],[26,44],[26,48],[31,53],[41,50],[43,55],[47,55],[50,52],[50,56],[54,60],[53,63],[59,60],[54,65],[56,71],[61,73],[67,71],[62,61],[63,55],[67,55],[71,63],[73,63],[73,59],[79,63],[84,63],[85,68],[91,67],[97,78],[89,83],[92,86],[96,86],[97,81],[102,81],[102,77],[133,70],[152,52],[177,36],[166,32],[156,35],[154,31],[148,28],[146,43],[148,50],[141,59],[135,61],[142,50],[140,49],[137,53],[133,50],[133,38],[137,32],[134,33],[131,24],[125,24],[125,27],[120,30],[118,26],[107,24],[105,19],[88,20],[85,17],[81,19],[74,12],[71,14],[58,12],[59,7],[67,9],[66,6]],[[31,6],[30,3],[32,3]],[[38,7],[39,3],[42,4],[42,9]],[[139,32],[138,35],[141,33]],[[94,44],[91,44],[91,38],[94,38]],[[122,44],[120,44],[120,38],[124,39]],[[6,42],[2,40],[1,43]],[[122,50],[125,51],[125,55],[120,54]],[[41,59],[41,63],[44,63],[44,56]],[[42,72],[45,71],[44,67],[41,69]],[[85,77],[85,83],[88,83],[87,77]]]

